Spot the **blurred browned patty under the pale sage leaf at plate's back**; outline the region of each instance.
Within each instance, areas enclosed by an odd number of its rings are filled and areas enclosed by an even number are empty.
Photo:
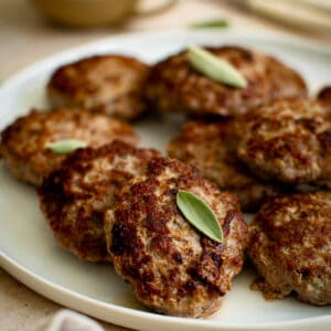
[[[273,99],[307,95],[300,75],[271,56],[236,46],[207,50],[234,65],[246,77],[247,88],[215,83],[195,71],[182,52],[151,70],[147,96],[157,108],[193,116],[234,116]]]

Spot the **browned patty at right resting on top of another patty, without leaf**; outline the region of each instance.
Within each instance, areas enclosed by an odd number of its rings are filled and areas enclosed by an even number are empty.
[[[319,102],[277,100],[237,124],[237,157],[255,175],[291,184],[330,181],[331,121]]]

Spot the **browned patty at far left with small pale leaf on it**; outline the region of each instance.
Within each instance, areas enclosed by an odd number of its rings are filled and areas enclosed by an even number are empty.
[[[131,126],[106,115],[83,109],[33,109],[2,131],[0,153],[17,178],[40,185],[65,158],[45,145],[62,139],[78,139],[93,147],[115,139],[132,145],[139,141]]]

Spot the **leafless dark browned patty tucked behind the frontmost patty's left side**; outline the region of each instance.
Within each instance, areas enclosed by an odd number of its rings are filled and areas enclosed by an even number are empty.
[[[120,141],[73,152],[39,190],[40,205],[63,248],[89,261],[110,260],[104,233],[104,211],[132,177],[159,156]]]

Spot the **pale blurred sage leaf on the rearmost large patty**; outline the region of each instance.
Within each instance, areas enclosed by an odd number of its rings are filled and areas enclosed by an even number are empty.
[[[247,87],[245,77],[228,62],[195,45],[190,46],[188,51],[190,64],[200,73],[229,86]]]

